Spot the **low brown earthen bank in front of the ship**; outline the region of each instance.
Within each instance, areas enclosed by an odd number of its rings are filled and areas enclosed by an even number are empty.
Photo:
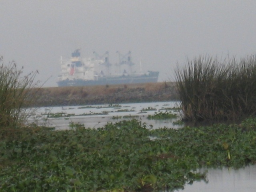
[[[175,83],[38,88],[33,106],[69,106],[177,100]]]

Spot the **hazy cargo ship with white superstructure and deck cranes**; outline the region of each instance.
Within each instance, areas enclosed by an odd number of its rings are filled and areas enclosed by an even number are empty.
[[[111,64],[109,54],[106,52],[100,56],[94,52],[94,58],[81,58],[80,49],[71,54],[71,60],[62,60],[61,74],[58,76],[57,84],[62,86],[93,86],[93,85],[112,85],[112,84],[136,84],[157,82],[158,71],[132,70],[131,52],[126,55],[119,55],[119,62]],[[113,67],[114,66],[114,67]]]

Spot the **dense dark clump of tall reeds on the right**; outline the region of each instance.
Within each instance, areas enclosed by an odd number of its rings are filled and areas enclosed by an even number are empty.
[[[200,56],[176,70],[184,120],[238,120],[256,114],[256,56],[220,62]]]

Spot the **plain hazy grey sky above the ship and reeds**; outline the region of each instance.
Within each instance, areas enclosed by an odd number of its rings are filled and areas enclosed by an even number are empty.
[[[174,80],[186,57],[256,54],[256,0],[0,0],[6,64],[57,86],[60,56],[77,48],[82,57],[109,51],[111,63],[130,50],[159,82]]]

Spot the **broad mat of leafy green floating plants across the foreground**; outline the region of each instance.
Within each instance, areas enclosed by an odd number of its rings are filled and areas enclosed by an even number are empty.
[[[103,128],[47,128],[0,142],[1,191],[173,191],[206,180],[193,170],[256,162],[256,119],[239,125],[149,130],[137,120]],[[113,166],[114,165],[114,166]]]

